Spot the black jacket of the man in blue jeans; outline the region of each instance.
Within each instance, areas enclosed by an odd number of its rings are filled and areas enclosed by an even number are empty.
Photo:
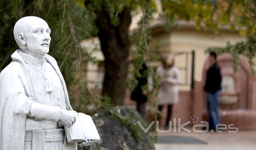
[[[215,93],[221,89],[221,69],[217,62],[215,62],[209,69],[206,74],[206,84],[204,90],[206,92]]]

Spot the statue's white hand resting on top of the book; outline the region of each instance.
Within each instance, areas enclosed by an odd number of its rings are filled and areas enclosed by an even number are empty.
[[[75,115],[73,114],[73,111],[61,109],[59,122],[66,127],[73,125],[75,123]]]

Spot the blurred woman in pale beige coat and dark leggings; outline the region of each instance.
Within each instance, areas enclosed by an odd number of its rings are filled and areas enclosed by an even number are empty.
[[[178,84],[181,83],[180,71],[174,66],[173,55],[167,55],[162,65],[157,67],[156,73],[161,77],[161,85],[158,90],[158,110],[162,111],[167,105],[167,117],[165,127],[169,127],[172,106],[178,102]]]

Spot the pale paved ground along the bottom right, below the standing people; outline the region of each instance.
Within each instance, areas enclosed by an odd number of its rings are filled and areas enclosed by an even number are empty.
[[[161,133],[159,136],[191,137],[207,144],[156,143],[156,150],[256,150],[256,130],[238,133]]]

